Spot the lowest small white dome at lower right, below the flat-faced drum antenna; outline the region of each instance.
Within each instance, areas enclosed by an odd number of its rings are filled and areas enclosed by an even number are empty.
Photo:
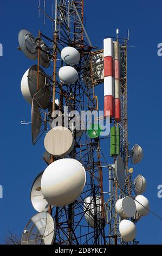
[[[119,224],[119,232],[122,239],[131,242],[136,236],[136,227],[132,221],[122,220]]]

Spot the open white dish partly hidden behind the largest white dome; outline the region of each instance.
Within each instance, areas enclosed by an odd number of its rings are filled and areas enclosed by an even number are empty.
[[[38,212],[48,211],[48,202],[44,198],[41,189],[41,179],[42,173],[38,174],[33,182],[30,192],[31,204],[33,205],[34,209]]]

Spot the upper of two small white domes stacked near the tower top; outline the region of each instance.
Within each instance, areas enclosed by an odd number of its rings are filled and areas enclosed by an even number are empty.
[[[80,53],[74,47],[67,46],[62,49],[61,58],[68,65],[76,65],[80,61]]]

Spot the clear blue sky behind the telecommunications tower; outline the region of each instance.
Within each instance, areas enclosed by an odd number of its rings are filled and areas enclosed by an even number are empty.
[[[8,229],[21,235],[25,224],[36,213],[30,203],[30,188],[35,176],[46,167],[41,159],[43,138],[33,146],[30,125],[20,124],[21,120],[31,120],[30,105],[24,101],[20,90],[21,78],[35,62],[17,51],[18,32],[27,28],[36,35],[41,29],[51,36],[50,23],[43,27],[43,18],[38,19],[37,4],[36,0],[5,0],[0,5],[0,43],[3,44],[3,57],[0,57],[1,243]],[[128,48],[129,142],[131,146],[138,143],[144,149],[144,159],[134,167],[134,176],[145,176],[148,185],[145,196],[150,200],[151,210],[160,216],[162,198],[157,197],[157,186],[162,184],[162,57],[157,55],[157,45],[162,42],[161,7],[160,0],[85,0],[86,29],[94,46],[102,48],[105,36],[115,35],[116,28],[120,29],[120,36],[126,36],[128,28],[131,31],[129,45],[135,47]],[[102,85],[96,88],[96,94],[103,98]],[[161,228],[162,222],[149,214],[137,224],[137,240],[161,243]]]

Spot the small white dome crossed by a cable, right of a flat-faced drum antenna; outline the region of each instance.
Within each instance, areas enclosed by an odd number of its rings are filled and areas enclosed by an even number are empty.
[[[150,209],[150,204],[146,197],[139,194],[137,197],[135,197],[135,205],[136,205],[137,212],[141,216],[145,216],[148,214]]]

